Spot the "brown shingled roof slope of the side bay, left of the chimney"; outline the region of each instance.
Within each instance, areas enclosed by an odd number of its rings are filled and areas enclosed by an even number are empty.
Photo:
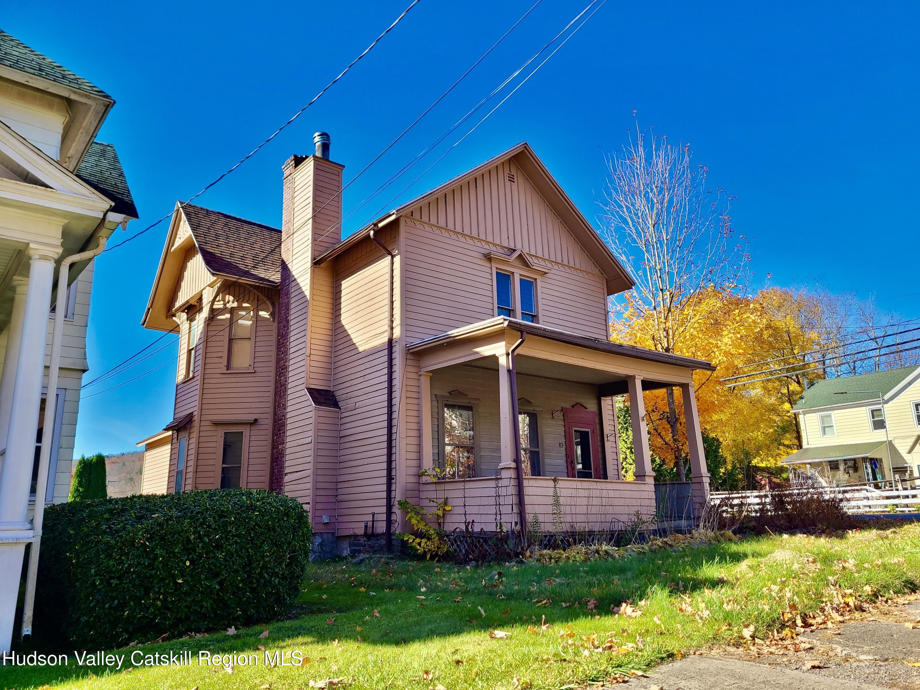
[[[214,275],[278,285],[282,231],[194,204],[181,205],[201,259]]]

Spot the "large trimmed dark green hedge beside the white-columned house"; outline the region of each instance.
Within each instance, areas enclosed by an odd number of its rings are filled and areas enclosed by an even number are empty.
[[[247,489],[49,506],[36,633],[84,649],[282,615],[310,558],[307,513]]]

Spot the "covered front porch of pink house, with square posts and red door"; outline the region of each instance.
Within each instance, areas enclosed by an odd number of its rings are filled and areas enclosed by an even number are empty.
[[[492,532],[523,522],[544,532],[615,532],[650,520],[643,394],[667,385],[681,389],[693,499],[697,508],[705,503],[693,371],[708,362],[502,317],[408,351],[420,367],[418,496],[423,506],[448,501],[445,529]],[[634,443],[624,450],[634,460],[622,456],[617,429],[627,395]]]

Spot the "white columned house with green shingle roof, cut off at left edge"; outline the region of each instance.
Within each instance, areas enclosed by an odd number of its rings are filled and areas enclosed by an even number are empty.
[[[95,141],[113,105],[0,30],[0,651],[10,649],[25,547],[37,536],[36,494],[66,500],[70,486],[93,284],[91,260],[71,258],[137,217],[114,147]],[[74,260],[66,286],[58,285],[64,259]],[[59,289],[69,293],[60,368],[51,370]],[[52,445],[48,482],[38,487],[42,443]]]

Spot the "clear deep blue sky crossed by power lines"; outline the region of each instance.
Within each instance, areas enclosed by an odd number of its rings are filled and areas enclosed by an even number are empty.
[[[533,2],[421,0],[326,96],[198,201],[280,224],[282,162],[309,153],[313,132],[331,134],[331,157],[351,179]],[[346,213],[587,2],[543,0],[345,192]],[[259,144],[407,5],[97,2],[75,13],[52,1],[40,17],[29,3],[6,4],[2,28],[116,99],[99,139],[118,147],[142,215],[131,235]],[[624,143],[637,110],[643,125],[689,142],[713,184],[739,197],[732,216],[752,239],[755,282],[767,273],[780,285],[822,281],[920,316],[920,294],[911,294],[920,293],[918,18],[920,6],[909,3],[611,0],[402,199],[526,140],[593,219],[604,152]],[[415,175],[352,216],[345,233]],[[140,320],[166,229],[98,260],[86,381],[159,336]],[[175,354],[85,391],[77,454],[132,450],[162,429],[172,416],[172,364],[88,396]]]

